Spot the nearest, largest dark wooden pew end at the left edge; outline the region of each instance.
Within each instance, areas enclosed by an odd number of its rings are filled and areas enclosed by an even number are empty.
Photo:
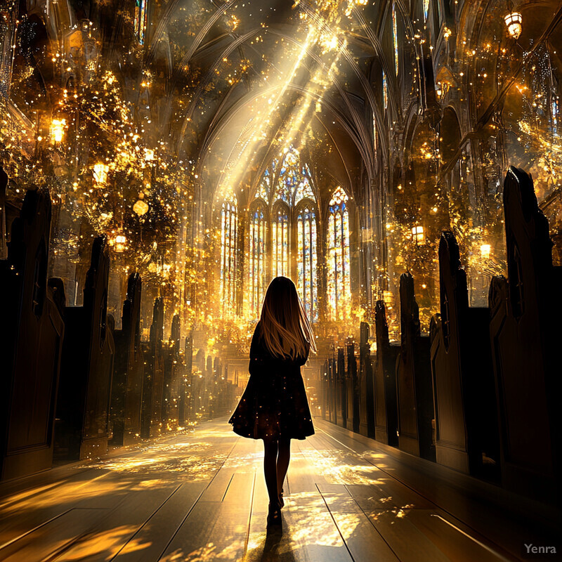
[[[47,283],[50,230],[48,191],[28,191],[12,224],[8,258],[0,261],[3,480],[48,469],[53,460],[65,296],[60,280],[51,282],[58,287],[56,301]]]

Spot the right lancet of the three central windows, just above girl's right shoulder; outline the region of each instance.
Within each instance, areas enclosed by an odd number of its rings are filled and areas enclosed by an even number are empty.
[[[318,320],[316,215],[310,207],[301,207],[299,210],[296,232],[296,286],[299,289],[306,315],[314,322]]]

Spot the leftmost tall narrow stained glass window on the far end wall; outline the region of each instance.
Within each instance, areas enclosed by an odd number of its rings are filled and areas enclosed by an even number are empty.
[[[233,315],[235,311],[237,230],[237,202],[233,195],[223,202],[221,209],[221,301],[225,318]]]

